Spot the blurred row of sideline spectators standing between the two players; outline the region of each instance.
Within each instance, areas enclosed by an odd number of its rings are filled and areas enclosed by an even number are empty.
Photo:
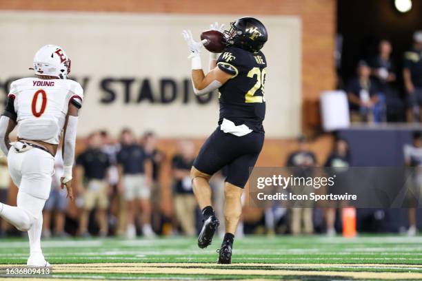
[[[156,147],[153,132],[141,138],[123,129],[114,140],[108,132],[92,132],[74,164],[72,203],[61,189],[61,151],[55,157],[50,198],[43,210],[43,237],[121,236],[136,238],[185,234],[194,236],[201,217],[192,191],[190,168],[197,147],[192,141],[178,141],[177,152],[165,155]],[[170,157],[170,214],[163,212],[162,165]],[[0,202],[10,199],[10,178],[6,158],[0,162]],[[223,209],[223,178],[214,176],[216,205]],[[220,198],[220,199],[219,199]],[[10,200],[9,200],[10,201]],[[222,215],[221,215],[222,216]],[[0,234],[16,233],[1,220]]]

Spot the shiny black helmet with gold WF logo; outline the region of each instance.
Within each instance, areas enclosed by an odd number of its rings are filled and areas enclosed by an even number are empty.
[[[243,17],[230,23],[230,30],[224,32],[227,45],[258,52],[268,40],[268,33],[261,21],[252,17]]]

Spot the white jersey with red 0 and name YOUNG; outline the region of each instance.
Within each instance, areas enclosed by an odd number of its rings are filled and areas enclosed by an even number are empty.
[[[57,145],[69,103],[81,105],[83,90],[68,79],[23,78],[10,85],[8,97],[14,98],[19,138]]]

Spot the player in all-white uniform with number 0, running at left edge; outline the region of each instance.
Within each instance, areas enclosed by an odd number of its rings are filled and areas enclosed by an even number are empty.
[[[10,177],[17,187],[17,207],[0,203],[0,217],[28,231],[28,266],[49,267],[41,251],[42,210],[50,194],[54,155],[63,132],[61,187],[73,200],[72,165],[78,110],[83,100],[79,83],[67,79],[70,59],[57,45],[45,45],[34,56],[34,77],[14,81],[0,117],[0,149],[8,156]],[[9,134],[17,126],[17,142]]]

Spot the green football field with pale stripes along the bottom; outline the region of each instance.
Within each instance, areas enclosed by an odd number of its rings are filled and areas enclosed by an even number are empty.
[[[42,246],[53,265],[48,280],[422,279],[417,236],[249,236],[235,241],[230,265],[216,264],[219,242],[199,249],[195,238],[92,238],[43,240]],[[26,240],[0,240],[0,268],[26,258]]]

